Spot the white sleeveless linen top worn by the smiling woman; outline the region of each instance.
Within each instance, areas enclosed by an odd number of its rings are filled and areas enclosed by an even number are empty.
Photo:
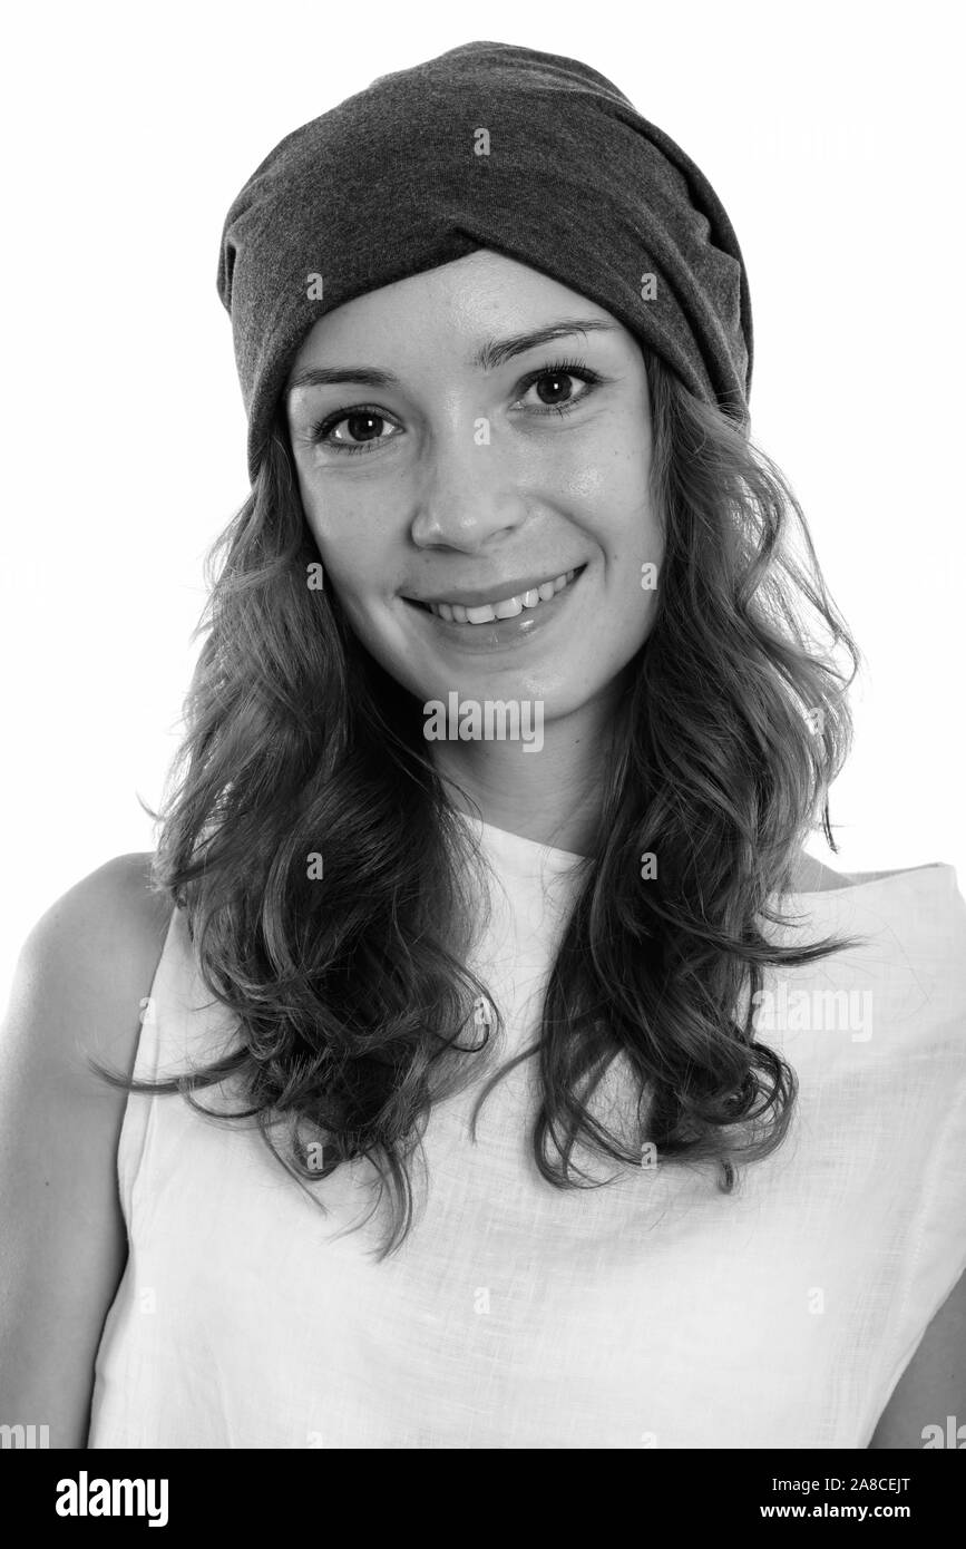
[[[533,1039],[576,857],[475,827],[503,884],[471,959],[506,1018],[502,1064]],[[757,1036],[800,1098],[732,1194],[711,1163],[582,1149],[615,1180],[554,1188],[529,1151],[528,1060],[483,1104],[475,1145],[478,1083],[433,1109],[416,1219],[379,1264],[382,1213],[345,1231],[372,1208],[365,1159],[305,1193],[252,1129],[132,1094],[130,1255],[88,1445],[867,1447],[966,1269],[966,903],[938,864],[793,908],[807,928],[769,926],[782,942],[870,940],[766,974]],[[229,1013],[204,1002],[175,911],[138,1075],[231,1042]]]

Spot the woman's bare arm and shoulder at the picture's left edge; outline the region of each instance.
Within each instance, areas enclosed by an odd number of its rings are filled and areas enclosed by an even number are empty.
[[[119,855],[37,922],[0,1027],[0,1425],[85,1447],[94,1357],[124,1262],[118,1139],[172,906]],[[6,1434],[6,1433],[5,1433]]]

